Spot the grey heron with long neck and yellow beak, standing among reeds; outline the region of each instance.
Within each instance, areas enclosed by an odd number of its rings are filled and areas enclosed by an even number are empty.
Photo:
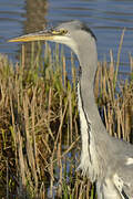
[[[106,133],[94,100],[93,83],[98,66],[95,35],[84,23],[71,21],[10,42],[37,40],[68,45],[80,62],[78,106],[82,150],[79,168],[82,174],[96,184],[99,199],[133,199],[133,146]]]

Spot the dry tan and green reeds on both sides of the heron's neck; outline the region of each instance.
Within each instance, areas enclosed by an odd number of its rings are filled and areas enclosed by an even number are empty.
[[[0,55],[0,198],[95,199],[95,187],[82,177],[76,107],[76,69],[34,43],[30,61],[24,45],[20,63]],[[133,143],[133,80],[119,82],[117,62],[99,62],[95,101],[108,132]],[[130,56],[131,69],[133,59]],[[68,75],[68,69],[71,69]]]

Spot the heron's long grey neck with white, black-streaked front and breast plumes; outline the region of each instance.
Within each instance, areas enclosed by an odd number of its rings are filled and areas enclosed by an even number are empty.
[[[93,38],[85,35],[78,46],[76,55],[81,65],[81,75],[78,84],[78,105],[81,123],[82,153],[79,168],[88,174],[91,181],[98,176],[105,177],[105,170],[112,156],[112,138],[99,115],[94,100],[93,84],[98,66],[96,44]],[[88,38],[89,36],[89,38]],[[89,41],[89,42],[86,42]],[[109,156],[105,156],[105,151]],[[103,157],[104,155],[104,157]]]

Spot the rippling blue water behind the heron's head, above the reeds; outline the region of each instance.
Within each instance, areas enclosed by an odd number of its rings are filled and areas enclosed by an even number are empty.
[[[130,72],[129,52],[133,52],[132,0],[0,0],[0,53],[14,60],[21,44],[7,40],[23,33],[42,30],[45,24],[81,20],[98,38],[99,60],[110,61],[113,50],[116,60],[123,28],[126,28],[121,53],[121,72]]]

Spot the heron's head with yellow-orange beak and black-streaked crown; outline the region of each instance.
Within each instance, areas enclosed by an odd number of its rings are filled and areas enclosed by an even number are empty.
[[[70,21],[61,23],[57,28],[11,39],[9,42],[52,41],[70,46],[78,54],[79,44],[82,43],[85,34],[90,34],[90,39],[95,40],[93,32],[84,23]]]

